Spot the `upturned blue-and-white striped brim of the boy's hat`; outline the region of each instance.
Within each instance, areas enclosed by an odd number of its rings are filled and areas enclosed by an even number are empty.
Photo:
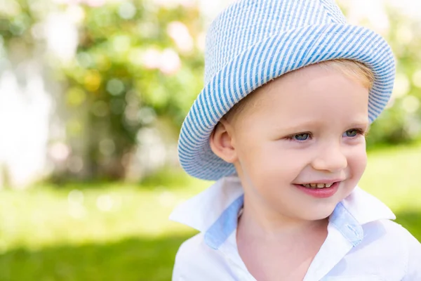
[[[210,79],[182,124],[178,141],[182,168],[191,176],[211,181],[234,174],[234,165],[210,150],[209,136],[220,118],[268,81],[338,58],[357,60],[373,71],[375,81],[368,98],[368,118],[373,122],[387,105],[394,84],[394,56],[385,39],[354,25],[302,27],[250,46]]]

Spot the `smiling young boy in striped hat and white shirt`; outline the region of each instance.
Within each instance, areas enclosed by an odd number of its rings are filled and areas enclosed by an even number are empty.
[[[171,218],[201,233],[173,280],[421,280],[421,245],[356,187],[392,93],[387,43],[329,0],[241,0],[210,26],[180,162],[216,183]]]

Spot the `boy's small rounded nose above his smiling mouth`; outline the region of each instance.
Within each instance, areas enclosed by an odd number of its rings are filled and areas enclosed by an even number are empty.
[[[342,152],[340,145],[328,145],[319,150],[314,157],[312,166],[319,171],[338,172],[348,166],[346,155]]]

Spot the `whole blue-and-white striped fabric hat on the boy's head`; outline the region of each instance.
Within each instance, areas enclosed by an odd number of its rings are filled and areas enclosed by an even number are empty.
[[[220,118],[267,81],[336,58],[357,60],[373,71],[373,122],[387,105],[395,73],[392,50],[380,35],[347,24],[333,0],[240,0],[229,6],[208,30],[205,87],[178,141],[182,168],[206,180],[234,174],[234,166],[210,150],[209,136]]]

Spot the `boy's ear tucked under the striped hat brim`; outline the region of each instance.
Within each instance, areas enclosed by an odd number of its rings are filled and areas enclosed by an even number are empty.
[[[225,162],[236,162],[237,154],[234,147],[232,126],[227,120],[221,119],[220,122],[218,122],[210,135],[209,144],[213,153]]]

